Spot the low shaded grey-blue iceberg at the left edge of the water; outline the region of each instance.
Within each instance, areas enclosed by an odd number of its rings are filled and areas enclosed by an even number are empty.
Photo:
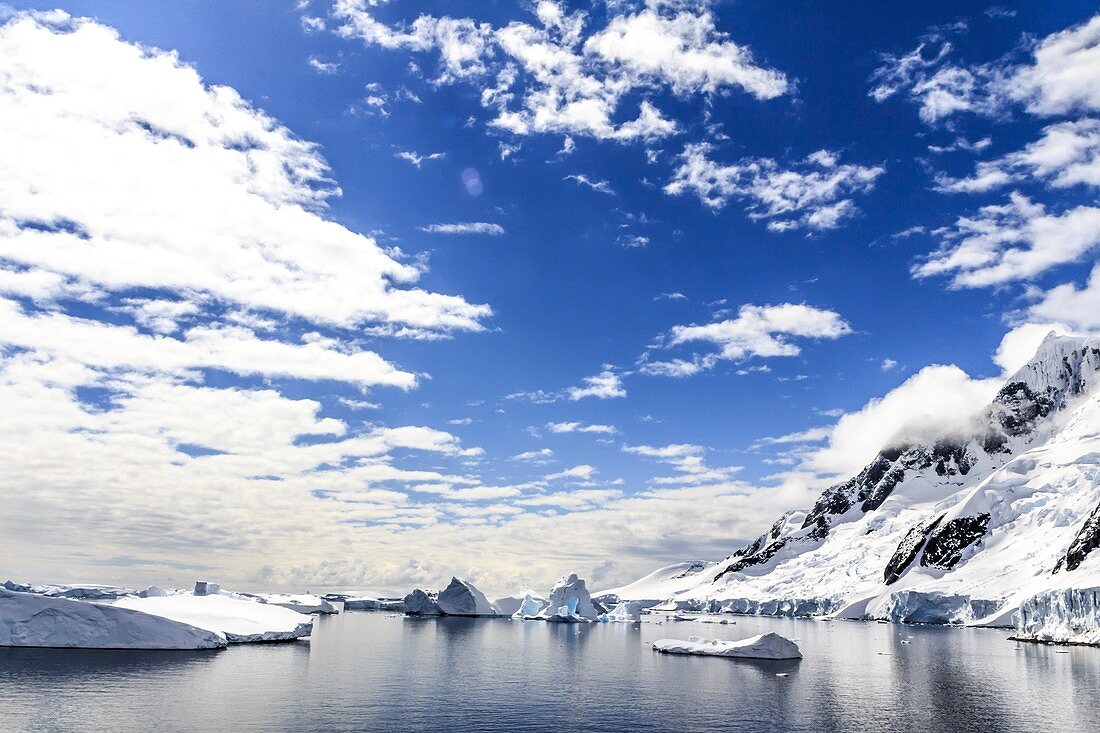
[[[216,631],[141,611],[0,589],[0,646],[80,649],[218,649]]]

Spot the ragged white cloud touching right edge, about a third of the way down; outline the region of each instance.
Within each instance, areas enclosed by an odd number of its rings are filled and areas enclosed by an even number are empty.
[[[913,267],[917,277],[950,276],[954,287],[986,287],[1030,280],[1076,262],[1100,244],[1100,208],[1050,214],[1014,193],[937,232],[941,249]]]

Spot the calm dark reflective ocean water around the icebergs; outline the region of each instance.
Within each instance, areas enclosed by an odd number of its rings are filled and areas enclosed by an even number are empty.
[[[650,648],[765,631],[795,638],[805,658]],[[318,619],[310,642],[218,653],[0,649],[0,729],[1100,730],[1100,649],[1007,636],[754,617],[564,626],[345,613]]]

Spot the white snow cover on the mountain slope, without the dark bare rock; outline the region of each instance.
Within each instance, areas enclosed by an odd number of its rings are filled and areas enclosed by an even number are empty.
[[[805,511],[790,512],[776,532],[793,539],[758,565],[721,577],[736,557],[668,566],[600,598],[647,605],[661,599],[653,611],[1024,623],[1036,637],[1100,642],[1090,631],[1100,627],[1100,609],[1088,601],[1100,588],[1100,548],[1072,570],[1064,565],[1100,511],[1100,338],[1048,337],[1005,384],[1021,382],[1048,401],[1049,414],[1035,417],[1026,431],[1005,433],[1000,450],[985,450],[980,434],[964,444],[972,459],[966,472],[935,464],[908,470],[880,505],[865,513],[857,502],[831,515],[822,538],[811,536],[812,526],[802,528]],[[996,415],[1004,404],[990,409]],[[900,577],[886,582],[887,566],[911,529],[937,517],[944,527],[987,514],[985,532],[952,567],[923,565],[921,545]],[[684,575],[695,566],[701,568]],[[1022,619],[1024,613],[1030,615]]]

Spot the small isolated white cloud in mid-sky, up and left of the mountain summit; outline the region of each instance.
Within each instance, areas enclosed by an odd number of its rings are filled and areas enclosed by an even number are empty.
[[[837,339],[851,333],[851,327],[833,310],[807,305],[784,303],[777,306],[744,305],[737,318],[728,318],[704,326],[674,326],[668,336],[668,346],[705,341],[718,347],[714,358],[740,361],[750,357],[794,357],[801,348],[792,338]],[[695,373],[700,369],[688,366]],[[700,368],[713,366],[704,361]]]

